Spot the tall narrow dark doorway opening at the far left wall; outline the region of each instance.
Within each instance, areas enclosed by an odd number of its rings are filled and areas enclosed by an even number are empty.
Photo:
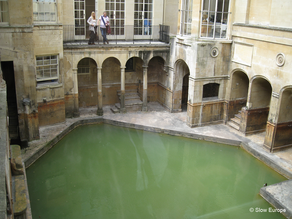
[[[6,81],[10,144],[21,146],[13,61],[1,62],[1,70],[3,79]]]

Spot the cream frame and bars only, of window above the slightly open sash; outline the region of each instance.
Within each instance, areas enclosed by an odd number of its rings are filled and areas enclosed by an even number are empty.
[[[40,11],[40,4],[44,4],[43,6],[43,9],[44,11]],[[45,11],[45,4],[48,4],[48,8],[49,8],[49,11]],[[36,6],[37,5],[37,6]],[[55,11],[51,11],[51,5],[54,5],[54,9]],[[35,11],[35,7],[37,7],[37,11]],[[47,23],[51,23],[51,24],[55,24],[57,23],[57,0],[32,0],[32,10],[33,10],[33,15],[32,15],[32,18],[33,18],[33,22],[34,24],[47,24]],[[35,20],[35,14],[37,13],[37,20]],[[39,15],[40,13],[44,13],[44,20],[43,21],[40,21],[39,19]],[[49,14],[49,18],[50,20],[45,20],[46,19],[46,14]],[[55,20],[52,20],[51,19],[51,14],[55,13]]]

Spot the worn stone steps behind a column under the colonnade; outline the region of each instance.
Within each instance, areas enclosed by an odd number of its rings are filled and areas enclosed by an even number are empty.
[[[121,91],[117,91],[119,99],[121,100]],[[143,102],[140,100],[137,90],[126,90],[125,91],[125,107],[126,112],[137,112],[142,110]],[[112,106],[111,111],[113,113],[120,113],[121,104],[116,103]]]

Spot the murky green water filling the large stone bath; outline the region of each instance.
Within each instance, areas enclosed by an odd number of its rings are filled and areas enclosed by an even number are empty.
[[[33,219],[285,218],[256,212],[286,178],[243,149],[120,126],[75,128],[26,174]]]

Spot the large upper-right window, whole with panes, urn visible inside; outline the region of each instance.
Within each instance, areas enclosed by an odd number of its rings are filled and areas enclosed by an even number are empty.
[[[201,38],[226,39],[229,0],[203,0]]]

